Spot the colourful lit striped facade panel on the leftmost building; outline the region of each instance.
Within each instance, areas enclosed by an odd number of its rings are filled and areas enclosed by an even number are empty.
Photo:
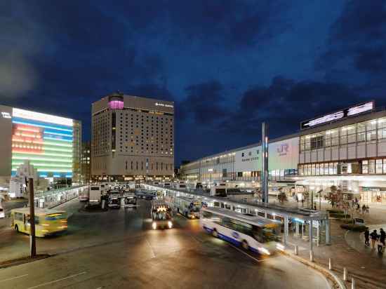
[[[73,121],[13,109],[12,174],[29,160],[40,177],[72,177]]]

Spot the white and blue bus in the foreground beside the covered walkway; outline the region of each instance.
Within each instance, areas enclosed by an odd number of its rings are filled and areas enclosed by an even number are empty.
[[[201,208],[200,225],[214,237],[255,253],[272,255],[284,250],[279,243],[281,223],[276,220],[212,207]]]

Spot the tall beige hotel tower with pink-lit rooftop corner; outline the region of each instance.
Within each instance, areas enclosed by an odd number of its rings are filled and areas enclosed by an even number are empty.
[[[95,180],[162,180],[174,172],[174,104],[108,95],[92,105]]]

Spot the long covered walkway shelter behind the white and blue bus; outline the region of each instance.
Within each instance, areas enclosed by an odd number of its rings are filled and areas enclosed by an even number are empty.
[[[310,243],[310,256],[312,255],[313,241],[317,246],[328,245],[331,242],[330,222],[328,214],[317,210],[302,208],[285,208],[273,204],[265,204],[251,201],[240,201],[230,198],[219,198],[208,194],[180,189],[166,189],[152,184],[141,184],[145,189],[163,191],[164,196],[190,196],[199,199],[207,206],[237,210],[241,213],[259,215],[271,220],[280,220],[283,224],[283,243],[288,245],[288,236],[302,238]],[[312,226],[310,226],[312,224]],[[290,228],[291,227],[291,228]]]

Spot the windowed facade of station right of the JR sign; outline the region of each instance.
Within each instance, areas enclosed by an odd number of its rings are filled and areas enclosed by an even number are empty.
[[[386,117],[300,136],[299,175],[383,174]]]

